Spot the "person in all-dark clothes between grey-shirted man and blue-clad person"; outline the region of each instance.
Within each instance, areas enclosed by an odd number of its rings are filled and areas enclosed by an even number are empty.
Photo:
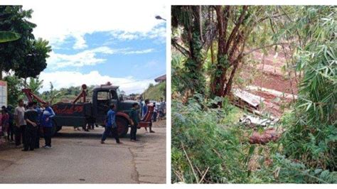
[[[25,112],[26,120],[25,143],[22,151],[33,151],[36,146],[36,134],[38,130],[38,112],[34,109],[34,102],[29,102],[28,109]]]

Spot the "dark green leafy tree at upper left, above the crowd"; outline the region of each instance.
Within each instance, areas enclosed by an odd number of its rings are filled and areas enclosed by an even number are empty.
[[[20,35],[16,41],[0,43],[0,80],[3,71],[12,70],[26,80],[46,68],[51,49],[48,41],[35,40],[32,32],[36,24],[27,21],[31,13],[32,10],[25,11],[22,6],[0,6],[0,31],[12,32],[12,37]]]

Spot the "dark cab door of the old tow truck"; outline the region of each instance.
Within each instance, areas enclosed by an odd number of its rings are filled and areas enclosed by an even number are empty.
[[[97,92],[97,123],[104,123],[109,111],[110,95],[109,91]]]

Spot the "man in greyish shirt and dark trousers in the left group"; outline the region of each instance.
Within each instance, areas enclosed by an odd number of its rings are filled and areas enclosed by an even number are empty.
[[[21,139],[22,143],[25,144],[26,120],[24,118],[25,108],[23,107],[23,105],[23,99],[19,99],[18,107],[16,107],[14,110],[14,119],[16,123],[16,126],[14,128],[16,148],[21,147]]]

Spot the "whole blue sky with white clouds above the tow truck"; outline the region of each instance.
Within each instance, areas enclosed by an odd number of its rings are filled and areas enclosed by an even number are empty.
[[[53,51],[40,79],[42,91],[112,82],[127,94],[141,93],[166,74],[166,7],[124,0],[23,1],[33,9],[33,34]]]

